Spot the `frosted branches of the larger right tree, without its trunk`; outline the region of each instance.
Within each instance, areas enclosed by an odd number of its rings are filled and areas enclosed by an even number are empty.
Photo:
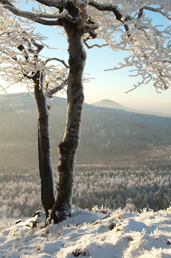
[[[124,62],[119,62],[118,67],[111,70],[133,67],[131,76],[140,75],[142,77],[140,82],[134,85],[134,88],[150,81],[153,81],[156,91],[171,87],[171,26],[169,24],[167,27],[161,27],[162,24],[154,26],[152,18],[150,18],[150,13],[158,13],[158,15],[164,16],[168,22],[171,21],[171,3],[169,0],[72,0],[72,4],[79,9],[78,16],[68,13],[69,1],[67,0],[36,0],[39,8],[33,7],[32,12],[21,11],[15,7],[18,1],[12,2],[14,5],[11,1],[0,0],[3,7],[15,15],[26,17],[41,24],[60,26],[61,17],[80,24],[80,28],[83,28],[85,32],[83,42],[88,48],[108,45],[113,51],[125,50],[130,52]],[[89,46],[86,41],[94,38],[100,38],[106,44]],[[30,68],[32,67],[30,66]]]

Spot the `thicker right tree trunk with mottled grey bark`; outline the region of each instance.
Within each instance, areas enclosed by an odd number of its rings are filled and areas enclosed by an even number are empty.
[[[83,48],[82,33],[72,22],[63,24],[68,40],[69,77],[67,87],[67,119],[63,140],[58,145],[59,166],[55,204],[50,214],[58,223],[71,216],[74,184],[75,157],[80,142],[82,108],[84,102],[83,70],[86,52]],[[50,221],[51,221],[50,220]]]

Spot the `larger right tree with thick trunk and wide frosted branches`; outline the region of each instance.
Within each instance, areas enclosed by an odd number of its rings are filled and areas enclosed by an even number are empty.
[[[143,83],[153,81],[158,91],[170,87],[170,34],[168,26],[158,30],[145,11],[159,13],[171,20],[170,1],[93,1],[93,0],[36,0],[39,9],[32,12],[16,8],[8,0],[0,0],[5,9],[46,26],[64,28],[68,41],[69,77],[67,87],[67,120],[63,140],[58,145],[59,166],[57,194],[50,213],[50,221],[58,223],[71,216],[71,201],[74,183],[74,167],[80,141],[83,94],[83,70],[88,47],[108,44],[112,50],[126,50],[130,56],[120,67],[134,66],[134,76],[141,76]],[[116,35],[115,35],[116,34]],[[114,36],[120,36],[114,39]],[[89,46],[88,40],[103,39],[106,44]],[[133,88],[133,89],[134,89]]]

